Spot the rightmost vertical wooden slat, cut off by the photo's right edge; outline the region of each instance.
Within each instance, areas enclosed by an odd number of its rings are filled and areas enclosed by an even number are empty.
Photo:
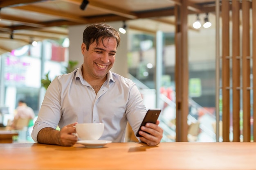
[[[253,101],[256,102],[256,1],[252,1],[252,67],[253,74]],[[253,105],[253,139],[256,142],[256,104]]]

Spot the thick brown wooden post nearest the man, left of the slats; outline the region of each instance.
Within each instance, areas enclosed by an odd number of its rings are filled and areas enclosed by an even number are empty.
[[[176,142],[187,142],[189,113],[189,66],[187,46],[187,0],[182,0],[181,6],[175,6],[176,31],[176,65],[175,65],[175,88],[176,88]]]

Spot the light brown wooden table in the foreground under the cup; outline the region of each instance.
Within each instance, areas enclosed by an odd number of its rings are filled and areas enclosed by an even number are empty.
[[[256,143],[0,144],[1,170],[249,170]]]

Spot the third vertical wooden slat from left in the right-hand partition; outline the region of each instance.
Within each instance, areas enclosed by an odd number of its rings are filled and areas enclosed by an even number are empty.
[[[243,56],[243,141],[250,142],[251,129],[250,129],[250,27],[249,27],[249,11],[250,2],[248,0],[242,1],[243,11],[243,45],[242,45],[242,56]]]

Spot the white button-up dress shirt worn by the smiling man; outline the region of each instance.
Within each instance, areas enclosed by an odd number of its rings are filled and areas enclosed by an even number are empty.
[[[31,133],[37,142],[45,127],[61,129],[78,123],[104,123],[101,140],[125,142],[127,121],[136,133],[145,114],[141,94],[135,83],[108,72],[108,78],[97,93],[83,79],[82,66],[69,74],[57,76],[47,88],[38,119]]]

